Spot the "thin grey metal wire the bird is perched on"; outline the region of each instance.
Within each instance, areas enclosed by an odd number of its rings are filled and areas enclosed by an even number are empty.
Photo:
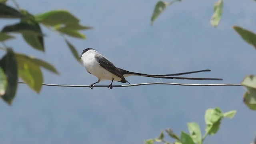
[[[26,84],[26,82],[18,82],[18,84]],[[130,87],[130,86],[144,86],[144,85],[154,85],[154,84],[164,84],[164,85],[176,85],[176,86],[242,86],[241,84],[179,84],[179,83],[169,83],[169,82],[150,82],[141,84],[128,84],[128,85],[114,85],[113,87]],[[89,87],[89,85],[70,85],[70,84],[45,84],[44,86],[60,86],[60,87]],[[108,88],[108,85],[96,85],[94,87],[98,88]]]

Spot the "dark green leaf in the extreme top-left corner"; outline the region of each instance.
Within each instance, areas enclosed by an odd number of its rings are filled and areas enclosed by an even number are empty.
[[[23,15],[16,9],[6,6],[7,0],[0,0],[0,18],[22,18]]]

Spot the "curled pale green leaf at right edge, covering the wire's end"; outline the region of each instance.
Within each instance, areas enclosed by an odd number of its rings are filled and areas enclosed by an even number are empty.
[[[244,94],[244,103],[251,110],[256,110],[256,76],[246,76],[241,84],[247,89]]]

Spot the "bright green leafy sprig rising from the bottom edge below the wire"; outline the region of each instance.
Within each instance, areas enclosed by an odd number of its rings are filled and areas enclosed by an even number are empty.
[[[154,142],[162,142],[164,144],[202,144],[206,136],[212,136],[218,132],[223,118],[231,119],[235,114],[236,110],[222,113],[220,108],[210,108],[206,110],[204,115],[206,123],[204,136],[202,136],[200,126],[196,122],[188,122],[187,126],[189,133],[182,131],[180,137],[177,134],[174,134],[170,128],[165,130],[170,138],[173,138],[175,142],[168,142],[164,140],[164,132],[161,132],[158,138],[148,139],[144,144],[154,144]]]

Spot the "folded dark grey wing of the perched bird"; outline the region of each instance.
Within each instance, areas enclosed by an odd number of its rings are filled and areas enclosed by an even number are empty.
[[[98,63],[100,64],[100,66],[102,66],[102,68],[105,68],[112,74],[121,78],[122,80],[120,80],[119,82],[123,82],[123,83],[127,82],[124,76],[122,75],[122,73],[119,71],[119,69],[116,68],[116,66],[114,66],[114,64],[110,62],[108,59],[106,59],[104,56],[100,54],[95,54],[94,58],[98,61]]]

